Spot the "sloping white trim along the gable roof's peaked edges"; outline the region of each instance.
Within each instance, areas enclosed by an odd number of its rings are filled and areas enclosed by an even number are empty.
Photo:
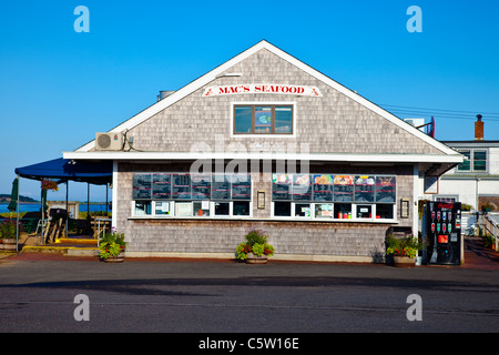
[[[232,58],[231,60],[226,61],[225,63],[218,65],[217,68],[213,69],[212,71],[207,72],[206,74],[202,75],[201,78],[192,81],[187,85],[183,87],[182,89],[175,91],[167,98],[154,103],[153,105],[149,106],[144,111],[138,113],[136,115],[132,116],[128,121],[121,123],[120,125],[115,126],[114,129],[110,130],[109,132],[122,132],[125,130],[130,130],[138,124],[144,122],[149,118],[153,116],[154,114],[159,113],[160,111],[166,109],[167,106],[172,105],[173,103],[177,102],[179,100],[182,100],[183,98],[187,97],[189,94],[193,93],[195,90],[201,89],[202,87],[208,84],[213,80],[215,80],[220,74],[222,74],[225,70],[230,69],[231,67],[240,63],[241,61],[247,59],[249,55],[256,53],[257,51],[266,49],[269,52],[276,54],[277,57],[282,58],[283,60],[289,62],[291,64],[297,67],[298,69],[305,71],[309,75],[316,78],[317,80],[320,80],[325,84],[332,87],[333,89],[337,90],[338,92],[345,94],[346,97],[350,98],[352,100],[358,102],[359,104],[364,105],[365,108],[371,110],[373,112],[379,114],[380,116],[385,118],[389,122],[396,124],[400,129],[411,133],[413,135],[419,138],[424,142],[428,143],[429,145],[438,149],[444,154],[456,154],[456,151],[451,148],[440,143],[439,141],[430,138],[429,135],[425,134],[424,132],[419,131],[411,124],[404,122],[399,118],[395,116],[394,114],[389,113],[388,111],[385,111],[380,106],[374,104],[373,102],[366,100],[365,98],[360,97],[359,94],[353,92],[352,90],[347,89],[346,87],[339,84],[338,82],[334,81],[333,79],[324,75],[319,71],[313,69],[312,67],[305,64],[304,62],[297,60],[293,55],[284,52],[283,50],[278,49],[277,47],[268,43],[267,41],[263,40],[255,45],[251,47],[249,49],[245,50],[244,52],[240,53],[238,55]],[[208,99],[207,99],[208,100]],[[86,143],[85,145],[79,148],[78,152],[86,152],[95,146],[95,140]]]

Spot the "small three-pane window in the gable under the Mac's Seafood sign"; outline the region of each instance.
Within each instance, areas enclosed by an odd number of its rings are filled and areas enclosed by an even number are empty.
[[[293,105],[234,105],[234,134],[293,134]]]

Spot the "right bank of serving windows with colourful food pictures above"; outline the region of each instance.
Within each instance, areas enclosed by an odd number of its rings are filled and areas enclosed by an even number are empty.
[[[394,220],[396,176],[273,174],[273,216],[316,220]]]

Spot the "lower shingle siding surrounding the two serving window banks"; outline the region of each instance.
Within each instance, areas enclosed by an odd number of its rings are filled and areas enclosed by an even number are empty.
[[[413,200],[413,166],[361,168],[349,165],[317,166],[313,172],[378,173],[397,175],[397,211],[400,199]],[[271,219],[271,172],[252,174],[253,220],[132,219],[132,175],[134,172],[182,172],[189,164],[119,164],[116,204],[118,230],[126,235],[131,252],[232,253],[252,229],[265,230],[276,253],[303,255],[371,256],[384,251],[384,239],[393,225],[410,227],[413,219],[398,224],[355,222],[275,221]],[[265,210],[256,206],[258,190],[265,191]],[[411,214],[410,214],[411,215]]]

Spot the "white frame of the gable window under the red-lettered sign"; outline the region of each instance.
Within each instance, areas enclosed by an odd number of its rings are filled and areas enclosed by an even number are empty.
[[[252,106],[252,132],[238,133],[235,131],[235,110],[237,106]],[[256,133],[255,132],[255,106],[272,106],[272,132],[269,133]],[[291,106],[292,108],[292,132],[291,133],[277,133],[275,132],[275,108],[276,106]],[[295,101],[243,101],[231,102],[231,138],[256,138],[256,136],[279,136],[279,138],[296,138],[296,121],[297,109]]]

